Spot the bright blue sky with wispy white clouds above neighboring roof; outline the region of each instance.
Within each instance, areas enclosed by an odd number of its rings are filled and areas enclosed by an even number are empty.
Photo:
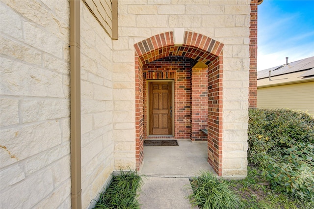
[[[264,0],[258,7],[258,71],[314,56],[314,0]]]

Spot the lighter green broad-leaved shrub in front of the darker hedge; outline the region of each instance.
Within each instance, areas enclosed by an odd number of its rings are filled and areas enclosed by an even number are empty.
[[[314,146],[298,143],[285,149],[287,155],[266,157],[268,166],[263,174],[277,190],[314,202]]]

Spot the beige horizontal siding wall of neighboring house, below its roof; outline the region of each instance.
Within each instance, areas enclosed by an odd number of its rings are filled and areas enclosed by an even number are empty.
[[[257,107],[308,110],[314,114],[314,81],[258,88]]]

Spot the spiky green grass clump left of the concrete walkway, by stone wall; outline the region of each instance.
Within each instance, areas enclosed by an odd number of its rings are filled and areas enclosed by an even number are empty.
[[[120,171],[117,176],[112,176],[112,182],[100,194],[95,209],[140,209],[138,190],[142,178],[135,171]]]

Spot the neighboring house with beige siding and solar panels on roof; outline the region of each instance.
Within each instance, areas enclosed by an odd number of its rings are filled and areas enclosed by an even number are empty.
[[[257,79],[257,107],[314,114],[314,56],[258,71]]]

